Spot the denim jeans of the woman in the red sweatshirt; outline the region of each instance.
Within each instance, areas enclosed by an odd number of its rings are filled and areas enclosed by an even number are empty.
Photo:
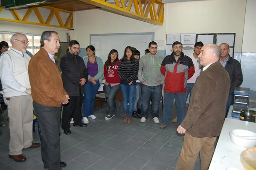
[[[108,113],[110,115],[113,115],[115,113],[115,106],[116,106],[116,95],[120,90],[120,84],[116,85],[116,86],[111,86],[110,84],[108,84],[108,86],[106,87],[106,93],[108,95]],[[107,113],[107,115],[108,115]]]

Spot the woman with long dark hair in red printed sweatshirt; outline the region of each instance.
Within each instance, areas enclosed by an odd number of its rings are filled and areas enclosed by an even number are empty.
[[[105,87],[108,95],[108,112],[106,113],[105,120],[115,116],[115,97],[120,90],[120,78],[117,74],[118,64],[118,52],[112,49],[108,54],[108,60],[104,64]]]

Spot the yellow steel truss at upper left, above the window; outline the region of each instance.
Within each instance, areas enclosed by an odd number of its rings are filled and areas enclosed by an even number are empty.
[[[46,9],[50,10],[49,16],[47,17],[46,21],[44,21],[40,11],[38,10],[38,7],[30,7],[29,9],[27,9],[26,14],[24,15],[24,17],[22,19],[20,18],[19,14],[17,12],[18,10],[12,9],[12,10],[10,10],[10,12],[12,13],[13,17],[15,18],[14,20],[7,19],[7,18],[1,18],[1,17],[0,17],[0,20],[11,21],[11,22],[15,22],[15,23],[27,23],[27,24],[33,24],[33,25],[39,25],[39,26],[52,26],[52,27],[58,27],[58,28],[64,28],[64,29],[72,29],[73,28],[73,12],[63,10],[63,9],[57,9],[57,8],[53,8],[53,7],[49,7],[49,6],[41,6],[40,8],[46,8]],[[0,6],[0,13],[2,12],[2,10],[3,10],[3,7]],[[38,18],[38,21],[39,21],[38,23],[27,21],[27,19],[29,18],[29,15],[31,14],[31,12],[33,10],[35,12],[36,17]],[[61,15],[59,14],[59,12],[64,12],[64,13],[69,14],[67,19],[65,20],[65,23],[61,19]],[[50,24],[54,15],[55,15],[56,19],[58,20],[58,25]]]

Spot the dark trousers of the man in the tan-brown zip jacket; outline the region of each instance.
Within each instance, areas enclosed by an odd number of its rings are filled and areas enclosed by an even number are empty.
[[[41,156],[44,167],[49,170],[61,170],[61,147],[60,147],[60,107],[47,107],[33,101],[33,107],[40,125]]]

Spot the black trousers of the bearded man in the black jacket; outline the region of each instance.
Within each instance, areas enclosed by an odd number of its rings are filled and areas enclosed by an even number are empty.
[[[62,124],[61,128],[63,130],[70,129],[71,118],[74,118],[74,124],[81,124],[81,107],[82,107],[82,98],[80,96],[69,96],[70,101],[68,104],[65,104],[62,112]]]

